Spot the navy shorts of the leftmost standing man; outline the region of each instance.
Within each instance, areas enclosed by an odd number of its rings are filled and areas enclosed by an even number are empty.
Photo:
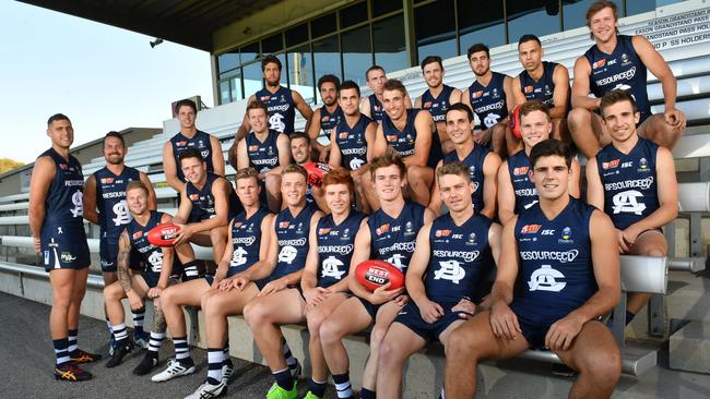
[[[45,226],[42,229],[45,270],[83,269],[91,265],[84,226]]]

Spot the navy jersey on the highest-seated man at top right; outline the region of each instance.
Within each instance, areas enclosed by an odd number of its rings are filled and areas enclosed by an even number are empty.
[[[584,52],[584,57],[592,69],[589,87],[594,96],[602,97],[617,88],[626,90],[634,96],[636,108],[641,112],[639,123],[651,116],[651,104],[646,90],[646,65],[634,49],[631,36],[616,36],[616,47],[611,55],[593,45]]]

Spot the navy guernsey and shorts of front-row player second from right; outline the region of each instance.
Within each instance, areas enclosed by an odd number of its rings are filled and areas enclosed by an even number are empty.
[[[426,297],[443,309],[443,315],[433,324],[426,323],[419,309],[410,301],[397,316],[397,323],[431,341],[451,323],[461,319],[459,313],[451,309],[462,299],[477,299],[477,288],[493,267],[488,246],[490,223],[490,219],[476,214],[461,226],[454,223],[450,214],[434,220],[429,231],[431,253],[424,287]]]

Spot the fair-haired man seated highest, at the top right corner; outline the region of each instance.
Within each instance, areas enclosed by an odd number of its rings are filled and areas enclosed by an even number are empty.
[[[641,114],[639,136],[673,148],[685,131],[685,116],[675,108],[677,84],[673,71],[653,45],[642,35],[618,34],[618,13],[613,1],[595,1],[587,11],[587,26],[594,39],[575,62],[569,131],[577,147],[588,159],[610,143],[610,132],[596,113],[601,97],[616,88],[631,94]],[[647,69],[661,81],[663,114],[651,114],[647,92]],[[589,93],[596,98],[590,98]]]

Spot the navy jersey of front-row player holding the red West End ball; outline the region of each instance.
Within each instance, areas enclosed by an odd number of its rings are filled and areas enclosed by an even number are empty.
[[[406,273],[414,253],[416,234],[424,226],[424,206],[407,201],[397,218],[390,217],[382,209],[374,213],[367,219],[370,256],[387,261]]]

